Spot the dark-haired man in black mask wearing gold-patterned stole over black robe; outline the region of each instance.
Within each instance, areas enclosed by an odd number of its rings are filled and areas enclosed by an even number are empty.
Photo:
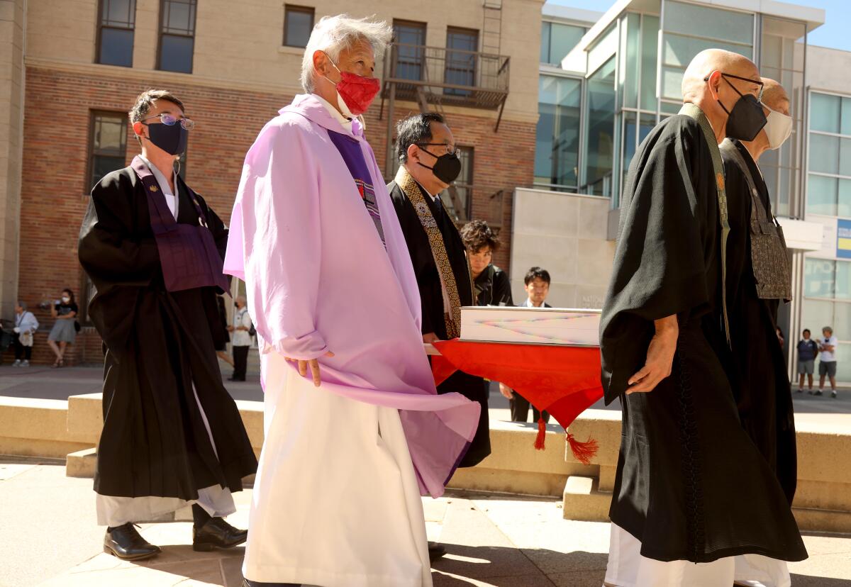
[[[461,169],[452,131],[440,114],[416,114],[398,123],[397,151],[402,166],[387,190],[420,288],[423,341],[454,339],[461,306],[475,302],[464,242],[439,195]],[[462,371],[437,386],[437,393],[452,391],[482,405],[476,436],[460,462],[471,467],[490,454],[488,394],[484,379]]]

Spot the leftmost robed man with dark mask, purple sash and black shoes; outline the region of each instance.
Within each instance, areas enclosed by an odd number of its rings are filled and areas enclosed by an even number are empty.
[[[96,288],[89,316],[106,353],[98,521],[106,552],[137,560],[160,549],[133,522],[188,503],[195,550],[244,542],[246,531],[221,516],[236,510],[231,492],[257,461],[222,385],[211,330],[216,293],[228,288],[227,230],[171,173],[193,123],[163,90],[141,94],[130,120],[142,154],[94,186],[79,259]]]

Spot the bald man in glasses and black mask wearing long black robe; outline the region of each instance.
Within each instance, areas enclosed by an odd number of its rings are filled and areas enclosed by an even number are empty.
[[[724,305],[717,143],[758,132],[759,88],[750,60],[701,52],[683,77],[683,109],[631,161],[600,324],[605,399],[620,398],[623,426],[607,585],[697,584],[698,572],[715,574],[702,584],[731,584],[727,557],[739,555],[769,557],[762,566],[782,579],[782,561],[807,556],[780,483],[740,425],[713,314]],[[738,568],[735,578],[748,579]]]

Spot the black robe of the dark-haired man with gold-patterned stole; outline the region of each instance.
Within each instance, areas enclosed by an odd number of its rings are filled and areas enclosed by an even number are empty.
[[[431,244],[426,235],[426,229],[420,224],[420,217],[417,216],[414,205],[395,181],[387,185],[387,191],[390,192],[393,206],[396,208],[399,224],[402,225],[402,232],[405,235],[405,241],[408,243],[408,253],[410,253],[411,262],[414,264],[414,273],[417,276],[417,285],[420,288],[423,334],[435,333],[438,339],[445,340],[447,333],[446,323],[443,319],[443,289],[440,284],[440,275],[437,272],[437,264],[434,262],[434,255],[431,254]],[[466,249],[458,229],[452,219],[449,218],[446,209],[442,205],[438,206],[435,202],[432,202],[425,191],[423,193],[429,208],[431,208],[431,214],[437,221],[437,227],[443,235],[443,244],[446,247],[449,264],[452,265],[461,305],[476,305],[473,301]],[[470,448],[459,465],[461,467],[472,467],[479,464],[482,459],[490,454],[488,391],[484,385],[484,379],[463,371],[456,371],[441,385],[437,386],[437,393],[450,393],[452,391],[457,391],[467,399],[479,402],[482,406],[476,436],[473,437]]]

